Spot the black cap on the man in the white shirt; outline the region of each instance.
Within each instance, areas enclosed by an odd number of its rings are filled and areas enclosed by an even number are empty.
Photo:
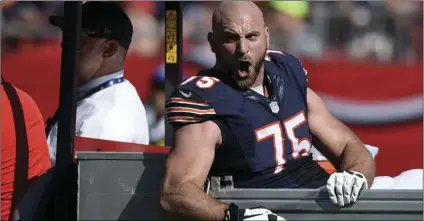
[[[63,16],[50,16],[49,21],[63,29]],[[89,1],[82,5],[81,36],[116,40],[128,49],[132,33],[130,18],[116,3]]]

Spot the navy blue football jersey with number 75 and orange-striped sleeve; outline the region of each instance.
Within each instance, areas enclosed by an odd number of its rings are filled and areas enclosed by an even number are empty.
[[[237,188],[315,188],[328,174],[310,154],[307,73],[292,55],[268,51],[268,96],[237,90],[222,73],[199,72],[179,85],[166,104],[174,126],[214,121],[222,144],[210,175],[232,175]]]

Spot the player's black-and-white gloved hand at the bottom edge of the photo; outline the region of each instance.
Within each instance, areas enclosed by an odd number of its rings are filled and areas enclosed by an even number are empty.
[[[232,203],[227,212],[225,220],[229,221],[286,221],[283,217],[271,212],[263,207],[250,209],[239,209],[237,205]]]

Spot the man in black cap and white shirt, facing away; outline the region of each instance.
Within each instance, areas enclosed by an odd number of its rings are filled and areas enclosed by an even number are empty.
[[[63,17],[52,16],[50,23],[63,27]],[[81,28],[75,136],[149,144],[145,108],[134,86],[124,79],[133,32],[130,19],[114,3],[90,1],[83,4]],[[52,165],[55,116],[46,128]]]

